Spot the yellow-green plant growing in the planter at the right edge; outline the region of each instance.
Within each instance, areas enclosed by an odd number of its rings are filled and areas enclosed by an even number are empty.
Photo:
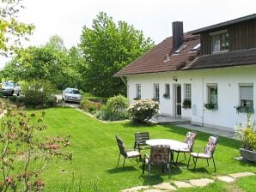
[[[252,114],[247,113],[247,122],[235,127],[235,137],[241,140],[243,148],[256,151],[256,127],[252,121]]]

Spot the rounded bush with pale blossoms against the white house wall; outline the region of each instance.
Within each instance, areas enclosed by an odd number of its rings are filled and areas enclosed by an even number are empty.
[[[134,105],[128,108],[131,115],[131,121],[134,123],[145,123],[151,117],[156,115],[159,110],[159,104],[152,99],[140,99],[135,101]]]

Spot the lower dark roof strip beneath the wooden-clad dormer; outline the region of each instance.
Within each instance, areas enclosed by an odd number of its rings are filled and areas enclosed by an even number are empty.
[[[256,64],[256,48],[204,55],[183,69],[213,69]]]

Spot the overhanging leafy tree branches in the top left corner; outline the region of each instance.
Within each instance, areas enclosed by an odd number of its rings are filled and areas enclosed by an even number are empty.
[[[21,46],[21,39],[31,35],[34,25],[25,24],[17,20],[21,0],[0,0],[0,54],[8,56]]]

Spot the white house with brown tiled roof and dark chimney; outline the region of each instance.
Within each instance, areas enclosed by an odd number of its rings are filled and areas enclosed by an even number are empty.
[[[234,129],[256,108],[256,15],[247,15],[173,37],[121,69],[127,95],[157,99],[162,115]],[[253,115],[255,118],[255,115]]]

